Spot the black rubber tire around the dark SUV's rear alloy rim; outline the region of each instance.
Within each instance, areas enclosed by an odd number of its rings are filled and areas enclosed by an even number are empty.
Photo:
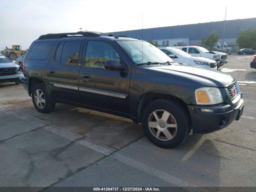
[[[36,104],[36,101],[35,101],[35,92],[36,92],[36,90],[40,90],[44,94],[45,103],[44,103],[44,106],[42,108],[39,108]],[[42,84],[42,83],[39,83],[39,84],[36,84],[36,85],[33,86],[33,88],[32,88],[32,102],[33,102],[34,107],[36,108],[36,110],[38,110],[38,112],[40,112],[40,113],[49,113],[55,107],[55,102],[52,102],[50,100],[50,97],[48,96],[48,94],[46,92],[46,88],[45,88],[44,84]]]

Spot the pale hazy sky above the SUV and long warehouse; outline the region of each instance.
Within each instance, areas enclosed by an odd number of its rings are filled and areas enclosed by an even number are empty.
[[[41,34],[114,32],[256,17],[255,0],[1,0],[0,50]]]

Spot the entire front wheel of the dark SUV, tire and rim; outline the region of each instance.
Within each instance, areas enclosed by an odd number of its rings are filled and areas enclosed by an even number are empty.
[[[178,102],[160,99],[151,102],[142,113],[142,127],[148,139],[163,148],[174,148],[189,136],[188,113]]]

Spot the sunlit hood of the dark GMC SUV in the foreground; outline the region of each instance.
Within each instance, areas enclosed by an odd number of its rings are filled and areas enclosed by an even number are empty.
[[[168,66],[160,66],[160,67],[151,67],[150,69],[158,70],[166,73],[175,71],[183,74],[188,74],[190,76],[196,76],[199,78],[209,80],[214,84],[216,84],[216,86],[218,87],[227,87],[228,84],[231,84],[236,80],[233,76],[222,73],[217,70],[211,70],[211,69],[187,66],[187,65],[186,66],[185,65],[168,65]]]

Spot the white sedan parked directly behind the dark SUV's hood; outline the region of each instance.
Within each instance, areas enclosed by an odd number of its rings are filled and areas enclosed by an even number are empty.
[[[217,70],[217,63],[212,59],[194,57],[180,49],[173,47],[159,47],[159,49],[172,58],[172,60],[175,62]]]

